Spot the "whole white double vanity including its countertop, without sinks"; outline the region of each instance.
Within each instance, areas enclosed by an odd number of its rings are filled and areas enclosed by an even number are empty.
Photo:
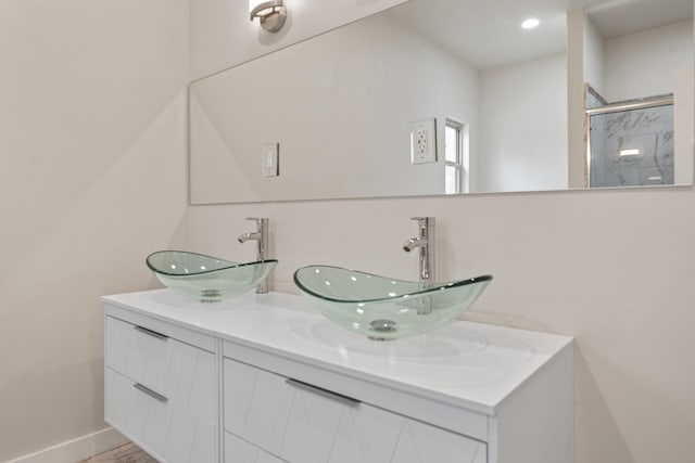
[[[374,342],[299,296],[106,296],[105,415],[162,462],[572,463],[572,339]]]

